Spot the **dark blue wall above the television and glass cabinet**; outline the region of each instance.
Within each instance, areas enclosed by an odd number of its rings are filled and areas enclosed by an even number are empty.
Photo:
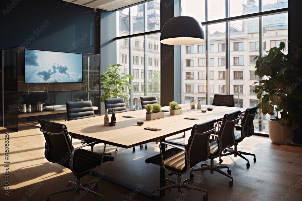
[[[93,8],[61,0],[2,0],[0,49],[99,53]]]

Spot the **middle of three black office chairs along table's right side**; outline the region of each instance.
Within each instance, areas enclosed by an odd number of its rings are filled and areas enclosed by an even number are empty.
[[[201,164],[201,168],[197,168],[194,170],[191,170],[190,177],[194,177],[194,174],[192,172],[194,171],[201,171],[201,170],[210,170],[211,174],[213,174],[214,171],[219,172],[220,174],[223,174],[227,177],[230,177],[232,181],[229,182],[229,185],[232,186],[234,183],[233,177],[231,177],[229,174],[232,172],[230,171],[230,168],[228,166],[223,165],[214,165],[214,159],[219,157],[221,155],[221,152],[226,149],[227,147],[233,146],[235,143],[235,136],[234,136],[234,128],[236,125],[236,122],[239,120],[240,110],[231,112],[229,114],[225,114],[223,116],[222,123],[219,124],[219,122],[216,124],[219,129],[217,134],[211,134],[212,136],[215,136],[214,139],[210,139],[210,159],[211,163],[208,164]],[[205,166],[205,167],[203,167]],[[226,174],[225,172],[221,171],[220,169],[227,168],[227,172],[229,174]]]

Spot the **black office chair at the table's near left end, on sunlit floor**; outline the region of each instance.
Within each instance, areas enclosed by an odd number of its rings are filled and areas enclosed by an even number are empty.
[[[86,145],[74,148],[71,144],[67,127],[64,124],[54,123],[39,119],[40,131],[43,132],[45,143],[45,158],[52,163],[57,163],[65,168],[69,168],[76,177],[76,183],[69,181],[67,188],[58,190],[53,193],[49,193],[44,201],[49,201],[49,197],[54,194],[64,193],[67,191],[74,190],[74,194],[71,200],[74,199],[77,192],[83,190],[88,193],[100,196],[103,200],[103,196],[96,193],[85,186],[94,184],[94,187],[98,187],[98,181],[90,181],[81,184],[81,178],[85,174],[89,173],[90,170],[100,166],[103,162],[113,161],[114,158],[111,156],[104,155],[106,144],[104,145],[103,154],[91,152],[82,149]],[[68,159],[66,159],[66,157]],[[66,159],[66,160],[65,160]],[[70,184],[74,186],[70,187]]]

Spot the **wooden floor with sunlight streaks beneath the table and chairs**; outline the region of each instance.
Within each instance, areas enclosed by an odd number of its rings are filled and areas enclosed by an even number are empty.
[[[179,135],[181,136],[181,135]],[[187,132],[187,137],[189,133]],[[177,139],[185,141],[186,138]],[[176,141],[176,140],[175,140]],[[28,124],[20,127],[19,132],[9,133],[9,154],[5,160],[5,134],[0,134],[0,200],[43,200],[48,193],[66,187],[68,181],[75,181],[75,177],[67,168],[48,162],[44,157],[44,137],[38,128]],[[73,143],[79,146],[79,141]],[[112,162],[106,162],[95,171],[106,176],[120,179],[146,191],[159,187],[159,168],[153,164],[146,164],[145,159],[159,152],[158,145],[148,143],[147,149],[136,147],[119,148],[115,153],[113,146],[107,146],[106,151],[115,157]],[[102,146],[95,146],[95,151],[101,151]],[[256,154],[257,161],[250,160],[250,168],[246,168],[246,161],[239,157],[223,158],[223,165],[228,165],[234,178],[233,186],[229,186],[230,179],[217,172],[194,172],[191,184],[207,189],[209,200],[271,200],[298,201],[302,200],[302,146],[292,143],[290,146],[278,146],[267,137],[252,136],[239,144],[238,149]],[[9,163],[5,163],[9,162]],[[217,164],[218,160],[215,159]],[[209,160],[206,162],[209,163]],[[5,165],[9,166],[9,178],[5,178]],[[200,164],[198,164],[200,167]],[[196,167],[194,167],[196,168]],[[168,174],[169,172],[167,172]],[[166,177],[176,179],[175,175]],[[189,178],[189,173],[183,179]],[[85,175],[83,182],[95,179]],[[8,182],[6,182],[8,180]],[[5,196],[5,184],[8,183],[9,196]],[[138,201],[151,200],[130,191],[100,180],[99,187],[92,189],[109,201]],[[203,192],[183,189],[185,200],[202,200]],[[161,200],[177,201],[181,197],[176,189],[166,190],[166,196]],[[87,194],[77,195],[74,200],[98,200],[97,196]],[[70,200],[72,192],[50,196],[50,200]]]

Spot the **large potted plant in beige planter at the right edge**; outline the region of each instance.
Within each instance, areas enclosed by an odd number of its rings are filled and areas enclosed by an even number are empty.
[[[302,121],[302,80],[296,66],[302,51],[293,45],[296,52],[291,54],[282,52],[284,42],[278,48],[271,48],[267,55],[259,54],[255,66],[255,75],[264,78],[259,79],[261,84],[253,90],[259,99],[259,109],[263,114],[275,115],[274,108],[277,112],[276,118],[268,122],[268,135],[276,144],[290,143],[294,138],[293,131]]]

